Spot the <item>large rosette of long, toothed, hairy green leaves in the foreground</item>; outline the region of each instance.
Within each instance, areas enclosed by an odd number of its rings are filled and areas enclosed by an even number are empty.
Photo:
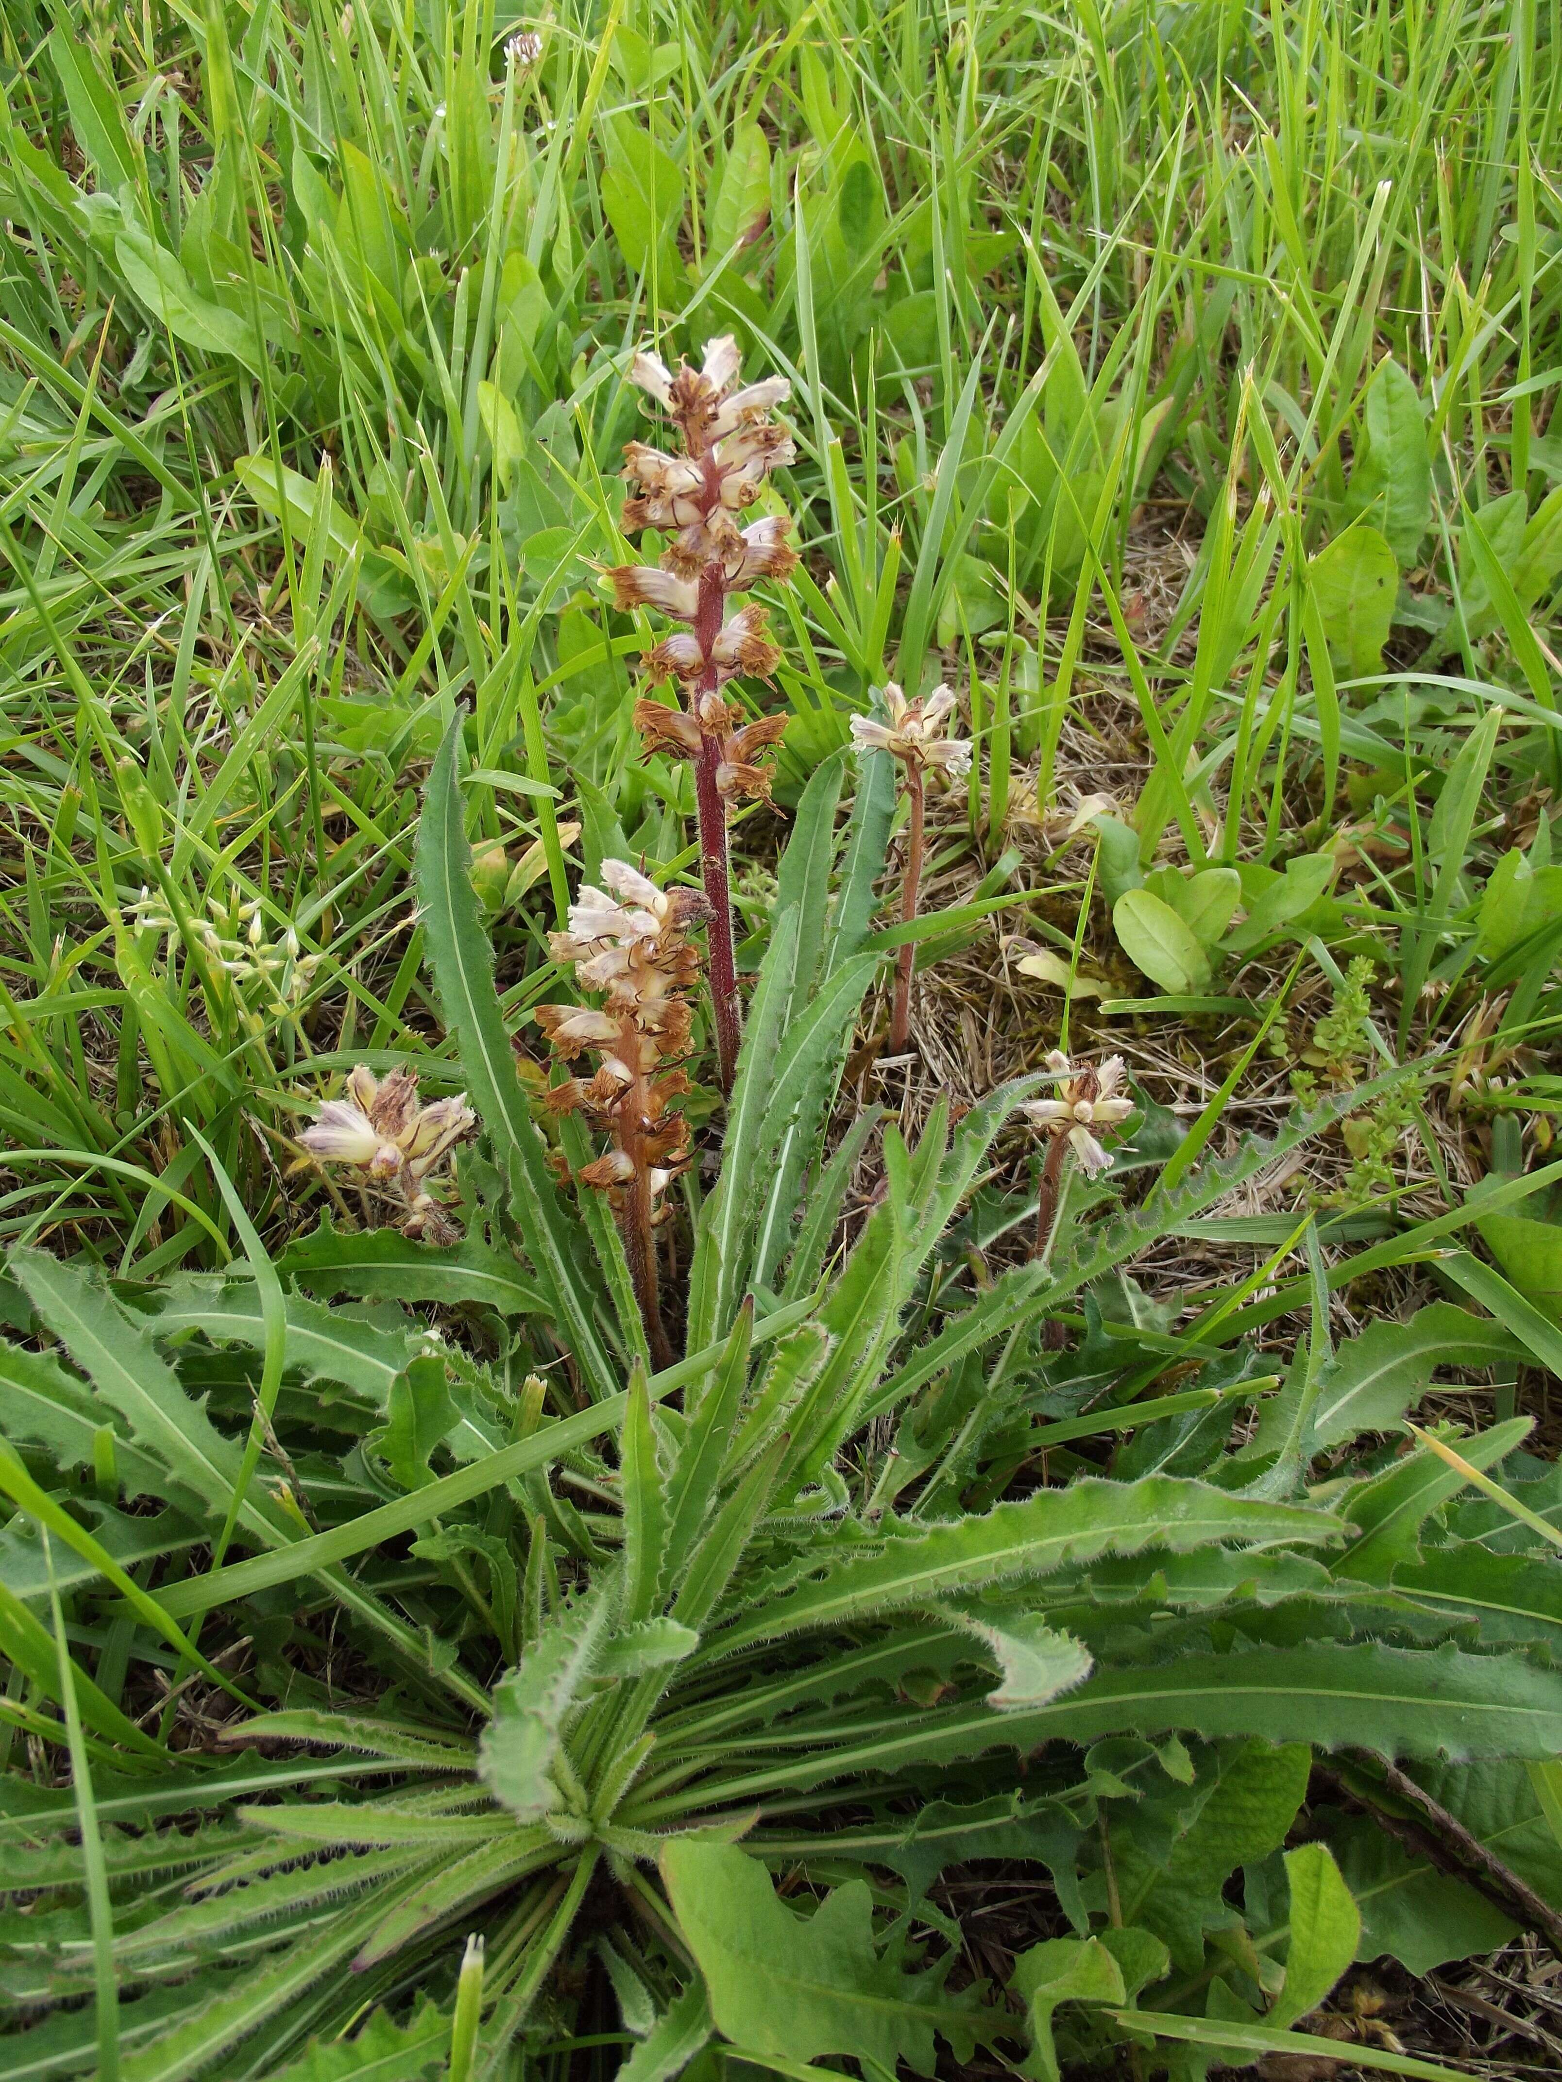
[[[1339,1799],[1285,1849],[1314,1751],[1347,1751],[1358,1793],[1400,1759],[1443,1805],[1518,1772],[1479,1828],[1541,1880],[1522,1759],[1562,1747],[1562,1568],[1460,1518],[1431,1449],[1306,1489],[1320,1447],[1512,1337],[1437,1303],[1425,1337],[1335,1351],[1318,1260],[1312,1337],[1233,1453],[1260,1357],[1110,1312],[1139,1251],[1345,1099],[973,1280],[1027,1220],[1014,1195],[973,1245],[1025,1078],[914,1147],[885,1128],[841,1247],[877,1122],[825,1128],[893,951],[887,760],[841,833],[846,772],[816,772],[781,866],[671,1366],[517,1078],[456,735],[419,877],[483,1133],[467,1239],[321,1228],[273,1264],[246,1218],[227,1274],[156,1289],[17,1253],[15,2072],[87,2072],[104,2036],[123,2082],[421,2076],[452,2032],[479,2076],[606,2034],[631,2082],[1285,2045],[1368,1928]],[[1495,1466],[1520,1432],[1460,1451]],[[1062,1932],[1008,1988],[927,1899],[985,1857],[1029,1861]],[[1447,1886],[1443,1928],[1483,1901]]]

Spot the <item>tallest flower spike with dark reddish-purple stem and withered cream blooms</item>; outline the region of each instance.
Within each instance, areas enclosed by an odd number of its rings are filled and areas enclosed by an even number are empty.
[[[671,371],[654,354],[637,354],[629,377],[673,418],[683,454],[673,456],[646,441],[625,448],[623,475],[633,489],[625,500],[623,531],[637,535],[654,527],[669,541],[656,564],[621,564],[606,575],[606,583],[619,608],[654,608],[677,625],[646,652],[641,670],[650,679],[675,681],[683,706],[639,702],[635,722],[648,752],[694,762],[700,864],[710,904],[716,1058],[721,1089],[729,1093],[741,1008],[727,804],[769,797],[771,779],[758,756],[779,741],[785,727],[779,716],[746,722],[744,710],[723,693],[731,679],[769,681],[781,662],[766,610],[756,602],[729,608],[729,602],[760,581],[785,585],[798,566],[798,552],[787,541],[787,514],[762,514],[748,527],[739,525],[771,471],[796,456],[787,429],[769,416],[791,385],[785,377],[741,385],[731,333],[706,341],[700,369],[681,362]]]

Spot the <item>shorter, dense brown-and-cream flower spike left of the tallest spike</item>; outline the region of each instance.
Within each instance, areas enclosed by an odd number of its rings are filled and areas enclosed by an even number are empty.
[[[652,1230],[662,1193],[689,1162],[689,1126],[673,1101],[689,1091],[681,1068],[694,1012],[687,993],[700,983],[700,956],[687,939],[710,906],[694,889],[658,889],[627,860],[604,860],[606,889],[581,887],[569,929],[554,933],[556,962],[573,962],[575,981],[602,993],[602,1006],[537,1006],[533,1018],[558,1062],[596,1056],[589,1078],[554,1085],[556,1114],[581,1114],[612,1137],[579,1183],[608,1193],[623,1230],[635,1299],[658,1366],[673,1360],[656,1293]]]

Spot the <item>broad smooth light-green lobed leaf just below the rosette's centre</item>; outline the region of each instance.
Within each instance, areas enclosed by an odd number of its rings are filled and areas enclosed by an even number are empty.
[[[660,1857],[673,1913],[710,1992],[716,2030],[791,2061],[848,2055],[933,2074],[933,2034],[968,2047],[971,2011],[941,1974],[904,1974],[873,1943],[862,1880],[833,1888],[810,1918],[775,1893],[764,1865],[729,1843],[675,1836]]]

